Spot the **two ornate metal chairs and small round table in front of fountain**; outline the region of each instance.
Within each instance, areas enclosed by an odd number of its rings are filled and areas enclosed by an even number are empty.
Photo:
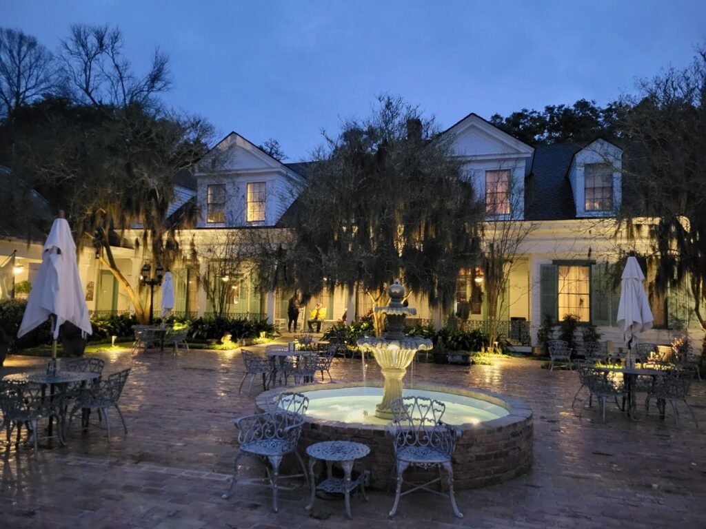
[[[350,495],[359,490],[367,501],[365,492],[367,470],[364,468],[354,475],[353,469],[357,461],[370,454],[370,448],[361,442],[345,439],[333,439],[316,442],[306,446],[309,456],[308,467],[299,454],[297,444],[304,426],[304,417],[309,408],[309,399],[304,394],[283,392],[268,403],[263,413],[246,415],[235,419],[239,430],[239,451],[235,456],[234,470],[228,490],[222,498],[227,499],[236,483],[261,485],[272,490],[273,511],[278,511],[277,497],[280,490],[294,490],[297,485],[285,485],[283,480],[303,478],[309,491],[309,503],[304,509],[311,511],[317,494],[343,494],[345,511],[352,518]],[[393,420],[390,421],[387,432],[395,453],[395,499],[389,516],[394,516],[400,504],[400,497],[424,490],[448,497],[455,516],[462,518],[463,514],[456,504],[453,488],[453,469],[451,466],[458,432],[443,421],[445,404],[426,399],[422,396],[406,396],[395,399],[391,403]],[[282,475],[280,464],[285,456],[297,459],[301,472]],[[267,470],[265,478],[241,479],[238,477],[239,461],[243,456],[253,456],[261,461]],[[317,483],[316,463],[324,461],[326,470],[323,480]],[[341,471],[335,475],[335,465]],[[433,478],[424,482],[409,482],[405,480],[405,471],[417,467],[424,470],[436,470]],[[447,490],[444,490],[441,469],[448,475]],[[436,485],[436,487],[432,487]],[[405,490],[403,490],[403,488]]]

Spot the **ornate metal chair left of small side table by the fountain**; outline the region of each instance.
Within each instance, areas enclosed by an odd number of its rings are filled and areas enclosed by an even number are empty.
[[[238,443],[240,449],[235,456],[233,465],[233,478],[228,490],[222,495],[227,499],[238,481],[238,461],[242,456],[254,456],[264,463],[267,476],[264,479],[241,480],[251,485],[270,487],[272,489],[272,508],[275,513],[277,507],[277,492],[292,490],[293,486],[280,485],[280,480],[304,477],[309,484],[304,460],[297,452],[297,442],[304,425],[304,413],[309,407],[309,399],[302,394],[282,394],[280,401],[273,404],[273,411],[247,415],[235,420],[239,430]],[[292,411],[290,411],[290,409]],[[297,410],[301,413],[297,413]],[[281,475],[280,463],[287,454],[294,454],[301,466],[301,474]]]

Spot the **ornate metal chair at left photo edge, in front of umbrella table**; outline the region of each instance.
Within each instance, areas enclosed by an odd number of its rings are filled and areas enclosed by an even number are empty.
[[[0,382],[0,409],[3,415],[1,427],[5,428],[8,448],[12,444],[13,427],[17,427],[17,439],[15,442],[17,449],[22,436],[22,425],[25,425],[32,433],[36,458],[39,442],[37,422],[42,418],[56,419],[59,442],[62,446],[66,446],[63,392],[44,396],[42,395],[42,384]]]

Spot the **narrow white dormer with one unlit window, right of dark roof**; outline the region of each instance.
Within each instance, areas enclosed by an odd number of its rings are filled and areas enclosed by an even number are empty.
[[[569,181],[576,217],[614,217],[621,204],[623,151],[603,139],[574,154]]]

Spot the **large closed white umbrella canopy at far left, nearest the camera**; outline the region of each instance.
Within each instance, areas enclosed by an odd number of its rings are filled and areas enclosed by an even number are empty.
[[[59,327],[64,322],[71,322],[85,334],[92,334],[88,307],[78,276],[76,243],[64,218],[54,219],[44,243],[42,264],[32,284],[18,338],[39,327],[52,315],[56,316],[52,329],[54,340],[59,337]]]

